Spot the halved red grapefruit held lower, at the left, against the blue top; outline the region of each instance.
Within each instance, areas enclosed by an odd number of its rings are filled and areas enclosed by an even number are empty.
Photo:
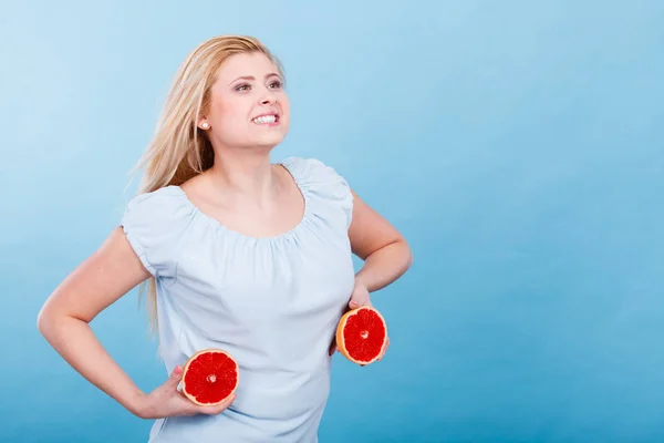
[[[199,405],[221,403],[235,393],[238,382],[237,361],[220,349],[198,351],[183,368],[183,394]]]

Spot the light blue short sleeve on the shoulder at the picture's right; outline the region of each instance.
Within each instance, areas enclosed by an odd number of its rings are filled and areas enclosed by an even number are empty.
[[[287,162],[303,190],[340,209],[345,227],[350,227],[353,218],[353,193],[345,177],[317,158],[289,158]]]

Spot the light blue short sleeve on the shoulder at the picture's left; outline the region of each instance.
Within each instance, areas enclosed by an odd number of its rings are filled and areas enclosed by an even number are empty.
[[[185,240],[189,210],[176,189],[135,196],[122,217],[121,226],[129,245],[154,277],[175,277],[177,250]]]

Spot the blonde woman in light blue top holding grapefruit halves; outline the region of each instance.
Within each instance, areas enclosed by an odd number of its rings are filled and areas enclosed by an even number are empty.
[[[122,226],[40,312],[39,330],[76,371],[157,419],[151,441],[317,441],[341,315],[411,266],[402,236],[334,169],[271,163],[288,127],[282,71],[259,41],[199,45],[177,73]],[[364,260],[356,275],[352,254]],[[145,280],[170,373],[149,393],[89,327]],[[207,348],[240,367],[237,398],[215,408],[177,390],[183,364]]]

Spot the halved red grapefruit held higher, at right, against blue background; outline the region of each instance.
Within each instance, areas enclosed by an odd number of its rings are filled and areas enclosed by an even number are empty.
[[[336,327],[336,348],[353,363],[373,363],[386,347],[387,324],[375,308],[362,306],[341,317]]]

